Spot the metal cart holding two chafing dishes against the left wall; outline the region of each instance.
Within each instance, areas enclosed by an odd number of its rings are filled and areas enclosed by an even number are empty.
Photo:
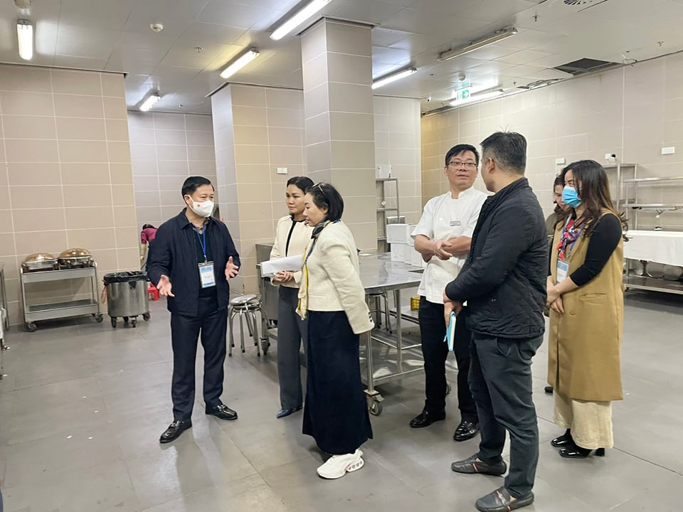
[[[97,292],[97,266],[69,270],[47,270],[43,272],[24,272],[21,269],[21,299],[23,319],[26,328],[33,332],[38,329],[36,321],[69,318],[91,314],[99,323],[102,321],[99,294]],[[26,284],[65,281],[68,279],[90,279],[92,295],[88,299],[78,299],[52,304],[26,304]]]

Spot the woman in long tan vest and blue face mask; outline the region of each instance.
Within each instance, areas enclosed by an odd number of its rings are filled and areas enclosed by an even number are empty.
[[[626,226],[598,162],[576,161],[561,177],[572,211],[557,225],[551,247],[548,383],[555,391],[555,422],[566,432],[551,444],[562,457],[583,459],[613,447],[611,403],[623,399]]]

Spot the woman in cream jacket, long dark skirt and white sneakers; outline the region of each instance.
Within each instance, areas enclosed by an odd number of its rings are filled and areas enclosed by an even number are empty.
[[[360,334],[372,322],[359,277],[356,242],[340,220],[344,201],[327,183],[309,188],[307,223],[314,226],[304,253],[299,313],[308,318],[304,434],[330,454],[317,469],[337,479],[361,469],[361,444],[372,438],[359,363]]]

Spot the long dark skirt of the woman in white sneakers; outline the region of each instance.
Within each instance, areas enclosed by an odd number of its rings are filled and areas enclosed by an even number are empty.
[[[372,439],[359,361],[359,335],[344,311],[309,311],[304,434],[331,455]]]

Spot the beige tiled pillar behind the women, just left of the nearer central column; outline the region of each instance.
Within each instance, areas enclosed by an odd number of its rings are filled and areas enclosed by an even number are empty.
[[[302,102],[300,90],[248,85],[212,97],[221,210],[242,261],[234,291],[257,289],[255,244],[272,243],[277,219],[287,215],[287,180],[307,175]]]

